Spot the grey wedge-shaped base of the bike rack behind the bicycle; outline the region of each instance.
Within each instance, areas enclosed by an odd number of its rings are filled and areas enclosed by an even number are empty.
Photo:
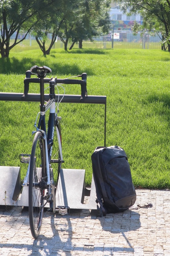
[[[0,205],[28,206],[29,187],[21,189],[20,167],[0,166]],[[89,196],[84,204],[84,197]],[[85,188],[85,170],[61,169],[56,191],[56,207],[70,209],[98,209],[96,188],[92,177],[91,190]],[[46,205],[49,207],[49,204]]]

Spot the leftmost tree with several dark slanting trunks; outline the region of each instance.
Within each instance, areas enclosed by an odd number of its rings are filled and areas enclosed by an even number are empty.
[[[68,1],[68,0],[62,0]],[[56,0],[0,0],[0,54],[8,57],[10,50],[22,42],[33,28],[42,28],[50,17],[54,18],[56,7],[60,1]],[[51,19],[52,19],[51,17]],[[38,29],[40,31],[40,29]],[[18,39],[19,34],[22,38]],[[11,42],[13,37],[14,41]],[[54,36],[55,38],[55,36]]]

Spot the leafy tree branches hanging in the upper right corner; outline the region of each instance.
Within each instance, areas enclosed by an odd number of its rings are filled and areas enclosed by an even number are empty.
[[[143,12],[157,19],[163,25],[165,31],[165,39],[170,33],[170,2],[169,0],[119,0],[119,5],[125,13]],[[130,9],[128,11],[128,9]],[[170,44],[168,44],[168,51],[170,51]]]

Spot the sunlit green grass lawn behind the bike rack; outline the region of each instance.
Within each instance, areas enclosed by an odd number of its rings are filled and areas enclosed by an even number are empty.
[[[15,49],[15,48],[14,48]],[[66,78],[86,72],[89,95],[107,96],[106,146],[125,149],[136,187],[170,188],[170,55],[161,50],[52,49],[11,51],[0,59],[0,91],[23,92],[25,71],[49,66],[52,76]],[[80,94],[66,85],[66,94]],[[37,85],[30,93],[39,93]],[[48,93],[46,91],[46,93]],[[62,93],[62,91],[61,91]],[[30,153],[39,103],[0,102],[0,165],[21,166],[19,154]],[[60,104],[63,168],[86,169],[92,177],[91,155],[104,145],[104,106]]]

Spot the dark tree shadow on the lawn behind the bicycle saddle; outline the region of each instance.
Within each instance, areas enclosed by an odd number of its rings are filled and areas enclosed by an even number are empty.
[[[52,55],[52,57],[55,57],[55,55]],[[57,58],[56,58],[57,60]],[[33,58],[23,58],[22,60],[18,60],[15,57],[7,58],[7,59],[0,59],[0,73],[1,74],[25,74],[27,70],[30,70],[30,68],[34,65],[38,66],[47,66],[46,64],[47,60],[46,57],[42,57],[41,59],[33,59]],[[93,75],[93,71],[89,68],[86,70],[82,70],[78,67],[76,63],[74,64],[63,64],[60,65],[56,62],[51,62],[50,68],[52,70],[53,74],[62,74],[62,75],[80,75],[84,72],[86,72],[88,75]]]

